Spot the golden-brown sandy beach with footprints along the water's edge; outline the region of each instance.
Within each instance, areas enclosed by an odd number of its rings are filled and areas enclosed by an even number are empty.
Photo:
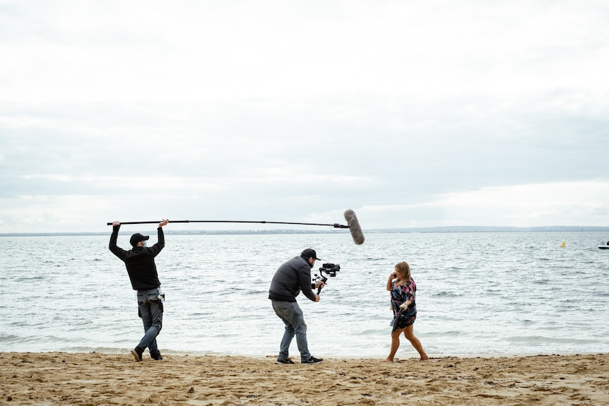
[[[0,357],[2,405],[609,405],[609,354],[348,358],[307,366],[276,365],[274,356]]]

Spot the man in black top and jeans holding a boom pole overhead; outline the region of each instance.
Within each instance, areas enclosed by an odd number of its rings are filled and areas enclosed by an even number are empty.
[[[108,248],[125,263],[129,280],[131,280],[131,287],[138,292],[138,316],[141,317],[144,326],[143,338],[131,350],[131,354],[136,361],[142,360],[142,354],[146,347],[148,347],[152,359],[158,361],[162,359],[156,337],[162,328],[165,294],[160,289],[154,258],[165,247],[165,234],[163,234],[161,227],[167,225],[168,222],[169,220],[162,220],[158,223],[158,242],[153,246],[149,247],[146,244],[150,236],[139,233],[133,234],[129,240],[133,248],[129,251],[117,246],[121,223],[118,221],[112,223],[112,235]]]

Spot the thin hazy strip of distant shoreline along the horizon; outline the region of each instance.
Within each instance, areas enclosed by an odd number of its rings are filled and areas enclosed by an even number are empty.
[[[0,233],[0,237],[52,237],[52,236],[95,236],[109,235],[107,232],[9,232]],[[261,230],[165,230],[168,235],[251,235],[251,234],[331,234],[348,233],[347,230],[320,229],[261,229]],[[410,227],[391,229],[366,229],[364,234],[384,233],[466,233],[466,232],[609,232],[609,227],[598,226],[545,226],[545,227]]]

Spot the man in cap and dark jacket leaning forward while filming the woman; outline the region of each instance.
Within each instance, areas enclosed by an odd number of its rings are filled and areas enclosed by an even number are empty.
[[[300,253],[300,256],[295,256],[290,261],[283,263],[273,275],[271,287],[268,289],[268,299],[271,299],[277,316],[285,323],[285,332],[281,339],[276,364],[294,364],[288,358],[290,343],[294,335],[296,335],[302,364],[318,364],[322,361],[322,359],[313,357],[309,352],[307,324],[302,310],[296,302],[300,291],[309,300],[319,301],[319,294],[315,294],[312,289],[319,289],[325,284],[322,281],[311,283],[311,269],[318,259],[315,250],[307,248]]]

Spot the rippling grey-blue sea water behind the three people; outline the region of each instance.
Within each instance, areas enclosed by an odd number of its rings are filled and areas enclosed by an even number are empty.
[[[125,227],[124,227],[125,228]],[[129,247],[133,232],[119,234]],[[128,352],[143,335],[136,292],[107,236],[0,237],[0,351]],[[601,232],[167,234],[156,263],[167,295],[160,350],[278,352],[283,323],[268,286],[312,247],[341,265],[314,303],[298,298],[317,357],[386,357],[386,280],[407,261],[415,335],[431,357],[609,352],[609,250]],[[561,247],[562,241],[565,246]],[[296,342],[290,354],[297,356]],[[402,340],[398,357],[417,357]]]

